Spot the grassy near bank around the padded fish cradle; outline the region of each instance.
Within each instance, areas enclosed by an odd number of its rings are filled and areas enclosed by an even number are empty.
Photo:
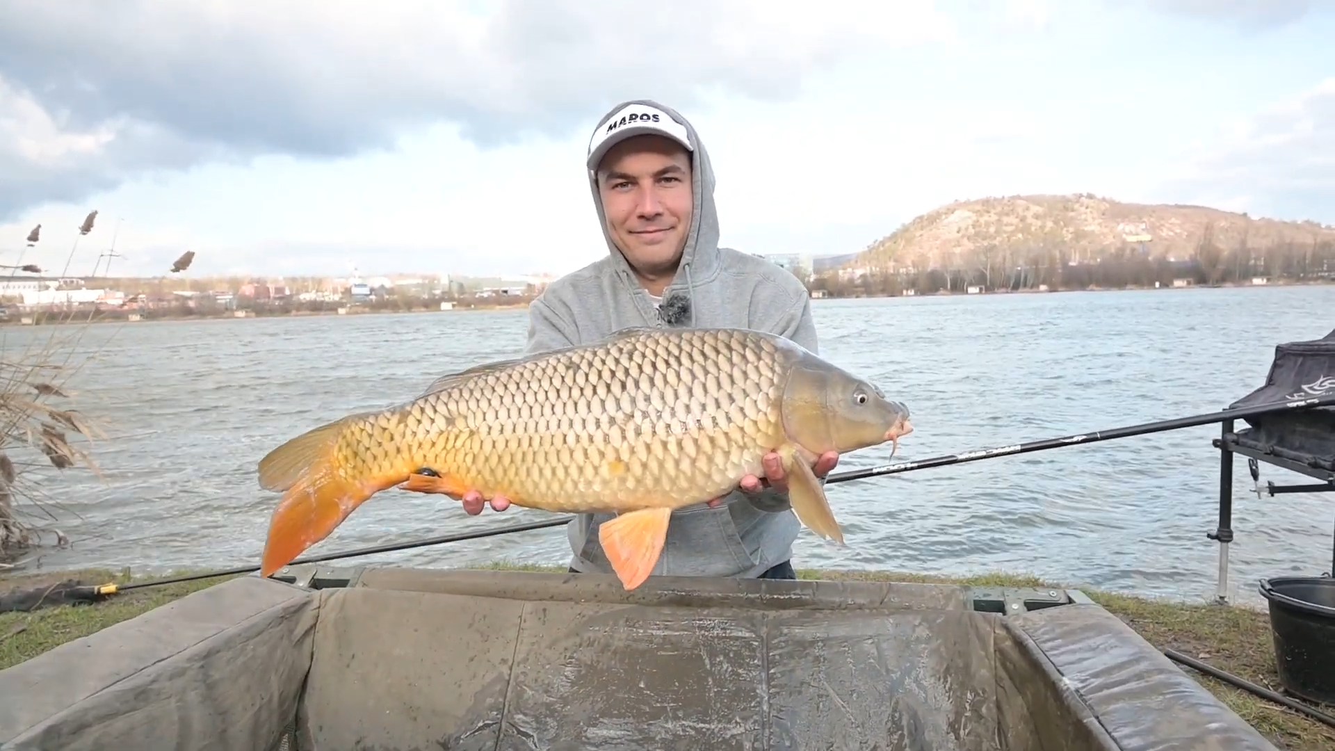
[[[561,567],[494,564],[473,568],[563,571]],[[191,572],[186,572],[191,573]],[[170,576],[162,577],[168,579]],[[989,573],[969,577],[922,576],[881,571],[801,569],[800,579],[844,581],[920,581],[972,587],[1060,587],[1025,575]],[[109,571],[48,572],[0,576],[0,592],[11,588],[51,585],[68,579],[89,584],[125,583],[127,572]],[[96,605],[63,605],[32,613],[0,613],[0,669],[35,657],[67,641],[88,636],[112,624],[135,617],[191,592],[231,577],[204,579],[183,584],[136,589]],[[1278,690],[1270,620],[1260,609],[1181,604],[1147,597],[1115,595],[1081,588],[1092,600],[1131,625],[1155,647],[1173,648],[1252,683]],[[1185,668],[1184,668],[1185,669]],[[1279,748],[1290,751],[1335,751],[1335,730],[1271,704],[1251,694],[1187,671],[1215,696],[1266,735]],[[1335,708],[1327,708],[1335,711]]]

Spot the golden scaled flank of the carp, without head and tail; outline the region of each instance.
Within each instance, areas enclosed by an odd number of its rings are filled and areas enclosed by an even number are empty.
[[[725,493],[738,473],[758,472],[782,440],[776,355],[766,339],[741,331],[570,350],[461,380],[417,402],[421,426],[403,424],[396,440],[392,422],[352,432],[348,452],[388,465],[376,446],[395,444],[485,496],[549,510],[697,502]],[[721,362],[732,371],[708,378]]]

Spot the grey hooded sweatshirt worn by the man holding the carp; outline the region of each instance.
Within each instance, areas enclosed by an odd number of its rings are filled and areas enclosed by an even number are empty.
[[[639,99],[617,104],[599,123],[631,103],[657,107],[670,115],[686,127],[693,146],[690,230],[681,266],[662,295],[665,311],[674,309],[676,314],[659,315],[613,243],[597,176],[589,171],[589,188],[607,242],[607,255],[557,279],[534,299],[529,307],[527,353],[595,343],[629,326],[665,326],[663,318],[698,327],[770,331],[818,351],[806,287],[774,263],[718,247],[714,171],[700,134],[686,118],[657,102]],[[689,311],[682,310],[686,303]],[[676,321],[682,318],[685,321]],[[573,568],[611,572],[597,529],[609,518],[611,514],[579,514],[570,522]],[[789,560],[798,529],[786,493],[766,489],[749,496],[737,490],[717,508],[696,504],[674,512],[653,575],[756,577]]]

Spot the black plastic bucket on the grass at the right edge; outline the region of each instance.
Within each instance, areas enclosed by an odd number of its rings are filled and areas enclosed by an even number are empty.
[[[1335,704],[1335,579],[1263,579],[1260,596],[1270,601],[1280,686],[1300,699]]]

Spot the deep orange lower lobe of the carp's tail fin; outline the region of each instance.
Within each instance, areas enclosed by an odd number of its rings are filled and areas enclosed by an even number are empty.
[[[271,576],[303,551],[330,536],[356,506],[395,482],[352,482],[319,468],[292,485],[274,509],[260,559],[260,576]]]

